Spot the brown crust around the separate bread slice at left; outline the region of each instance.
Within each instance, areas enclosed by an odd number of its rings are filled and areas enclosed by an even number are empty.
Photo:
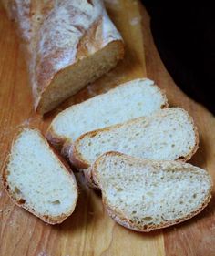
[[[13,148],[15,141],[19,138],[21,132],[23,132],[26,128],[22,128],[19,130],[19,132],[16,134],[15,138],[13,139],[13,143],[11,145],[11,149]],[[52,151],[52,154],[55,154],[56,158],[59,160],[59,164],[61,165],[62,169],[65,170],[65,172],[67,173],[67,178],[71,179],[75,185],[76,191],[77,189],[77,181],[75,178],[75,175],[73,174],[72,170],[69,168],[67,162],[65,159],[63,159],[59,154],[57,154],[56,150],[51,148],[48,144],[48,142],[46,141],[46,139],[40,134],[40,132],[37,129],[36,132],[38,132],[38,134],[40,135],[40,138],[42,138],[44,140],[44,143],[46,144],[46,146]],[[59,216],[48,216],[48,215],[42,215],[39,212],[36,212],[33,208],[31,208],[29,205],[26,204],[26,200],[25,199],[17,199],[15,197],[15,194],[13,193],[12,189],[10,188],[8,182],[7,182],[7,176],[8,176],[8,170],[7,170],[7,165],[9,163],[9,159],[10,159],[11,155],[7,156],[7,159],[5,159],[5,168],[3,169],[3,173],[2,173],[2,181],[3,181],[3,185],[5,188],[6,193],[8,194],[8,196],[10,197],[11,200],[13,200],[13,202],[19,206],[22,207],[24,209],[26,209],[27,211],[31,212],[32,214],[34,214],[36,217],[38,217],[39,219],[43,220],[44,222],[48,223],[48,224],[60,224],[62,223],[64,220],[66,220],[75,210],[76,208],[76,204],[77,204],[77,197],[75,199],[74,205],[72,207],[71,210],[69,210],[69,212],[61,214]],[[78,192],[76,192],[78,194]]]

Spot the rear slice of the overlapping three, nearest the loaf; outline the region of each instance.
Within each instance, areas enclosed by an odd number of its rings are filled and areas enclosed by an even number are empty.
[[[153,81],[132,80],[59,113],[52,121],[46,138],[60,149],[66,141],[70,146],[88,131],[149,116],[166,107],[167,97]]]

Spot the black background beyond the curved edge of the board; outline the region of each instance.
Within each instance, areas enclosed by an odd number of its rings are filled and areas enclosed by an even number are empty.
[[[144,1],[159,55],[176,84],[215,114],[215,8]],[[189,1],[188,1],[189,3]]]

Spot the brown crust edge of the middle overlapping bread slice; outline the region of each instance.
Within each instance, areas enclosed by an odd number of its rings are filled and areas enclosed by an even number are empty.
[[[170,108],[169,108],[170,109]],[[177,108],[175,108],[177,109]],[[189,153],[186,156],[183,157],[179,157],[176,160],[182,161],[182,162],[186,162],[189,159],[191,159],[191,157],[196,153],[197,149],[199,148],[199,142],[200,142],[200,138],[199,138],[199,133],[198,133],[198,128],[196,127],[193,118],[191,118],[191,116],[189,116],[188,112],[185,111],[183,108],[179,108],[180,110],[182,110],[187,117],[189,118],[190,123],[192,124],[193,127],[193,131],[195,134],[195,145],[193,148],[191,148],[191,150],[189,151]],[[162,111],[159,112],[159,116],[165,115],[165,113],[163,113]],[[113,128],[120,128],[123,125],[126,125],[127,123],[135,123],[139,118],[135,118],[132,120],[128,120],[127,122],[123,123],[123,124],[117,124],[111,127],[107,127],[107,128],[101,128],[101,129],[97,129],[94,131],[90,131],[87,132],[83,135],[81,135],[79,138],[77,138],[77,140],[74,142],[72,148],[69,150],[69,160],[70,162],[76,166],[78,169],[86,169],[90,167],[90,163],[88,163],[87,159],[85,159],[81,152],[78,151],[78,144],[81,141],[82,138],[93,138],[95,137],[97,134],[99,133],[103,133],[103,132],[108,132],[111,131],[111,129]]]

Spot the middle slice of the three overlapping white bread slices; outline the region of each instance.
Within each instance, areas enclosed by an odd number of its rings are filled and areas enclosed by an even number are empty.
[[[166,108],[77,138],[69,159],[77,168],[88,168],[107,151],[142,159],[189,160],[199,145],[193,119],[182,108]]]

